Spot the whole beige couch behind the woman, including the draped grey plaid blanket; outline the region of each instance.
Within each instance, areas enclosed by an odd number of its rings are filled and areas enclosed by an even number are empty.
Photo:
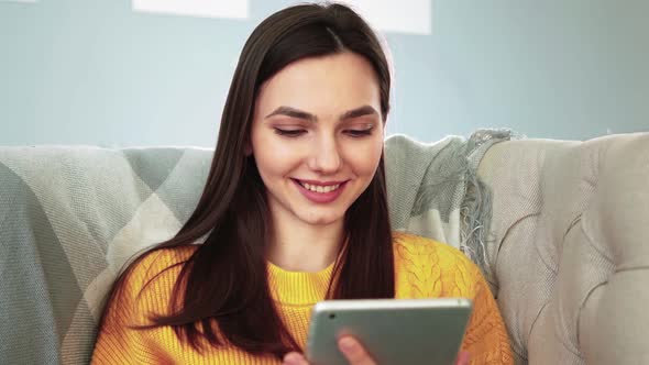
[[[479,264],[518,364],[649,364],[649,134],[484,135],[393,140],[395,228]],[[0,363],[88,363],[106,291],[128,258],[182,226],[211,153],[1,147]]]

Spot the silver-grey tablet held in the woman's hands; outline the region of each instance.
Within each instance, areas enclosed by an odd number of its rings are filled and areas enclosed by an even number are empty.
[[[311,312],[307,360],[344,365],[338,339],[356,338],[378,364],[454,364],[472,303],[463,298],[324,300]]]

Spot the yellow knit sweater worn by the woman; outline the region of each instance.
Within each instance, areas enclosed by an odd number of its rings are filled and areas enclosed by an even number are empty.
[[[92,364],[278,364],[273,356],[255,356],[233,346],[209,347],[201,354],[178,341],[168,327],[130,330],[146,323],[152,311],[166,313],[176,266],[153,280],[135,300],[143,284],[174,263],[189,257],[195,246],[166,248],[145,257],[125,281],[122,296],[107,303]],[[304,347],[310,310],[324,298],[333,265],[319,273],[295,273],[268,264],[270,286],[282,319]],[[242,284],[244,285],[244,284]],[[396,298],[463,297],[473,300],[462,350],[471,364],[513,364],[507,331],[498,307],[479,268],[460,251],[427,239],[395,234]],[[207,343],[207,342],[206,342]]]

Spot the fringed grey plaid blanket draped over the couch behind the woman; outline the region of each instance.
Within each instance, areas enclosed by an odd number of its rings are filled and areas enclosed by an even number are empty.
[[[471,222],[488,214],[476,203],[486,195],[476,195],[475,168],[507,139],[388,139],[394,228],[479,258],[484,242]],[[188,219],[211,157],[194,147],[0,148],[0,364],[88,363],[111,283],[133,254]]]

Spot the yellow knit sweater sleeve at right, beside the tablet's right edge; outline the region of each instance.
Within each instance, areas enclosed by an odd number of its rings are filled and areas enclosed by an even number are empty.
[[[474,278],[473,313],[461,350],[471,355],[471,364],[514,364],[507,329],[480,269],[470,265]]]

